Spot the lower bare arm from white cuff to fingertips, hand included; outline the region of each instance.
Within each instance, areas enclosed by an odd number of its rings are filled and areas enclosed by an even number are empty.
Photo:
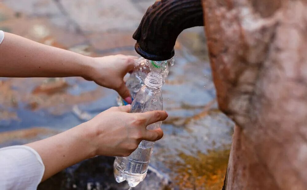
[[[129,113],[130,108],[130,105],[112,107],[67,131],[26,144],[43,160],[42,181],[84,159],[96,155],[128,156],[142,140],[162,138],[162,129],[147,130],[146,127],[165,120],[165,111]]]

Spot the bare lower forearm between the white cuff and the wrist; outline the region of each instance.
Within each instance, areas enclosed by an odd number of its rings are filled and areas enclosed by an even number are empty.
[[[45,165],[42,181],[63,169],[95,156],[91,134],[85,130],[86,123],[58,135],[26,144],[41,156]]]

